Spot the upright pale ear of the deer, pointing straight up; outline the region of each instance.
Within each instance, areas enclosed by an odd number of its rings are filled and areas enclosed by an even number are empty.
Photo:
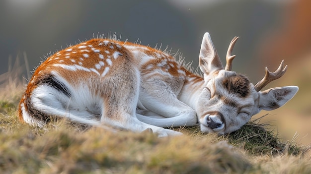
[[[201,71],[206,75],[224,69],[209,33],[205,33],[203,36],[199,65]]]

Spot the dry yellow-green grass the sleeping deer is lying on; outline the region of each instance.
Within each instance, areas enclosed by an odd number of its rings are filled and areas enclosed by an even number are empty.
[[[282,142],[276,127],[251,120],[230,135],[175,128],[183,136],[83,128],[66,120],[44,128],[22,124],[17,105],[23,89],[0,86],[1,174],[310,174],[311,153]],[[13,87],[11,86],[13,85]]]

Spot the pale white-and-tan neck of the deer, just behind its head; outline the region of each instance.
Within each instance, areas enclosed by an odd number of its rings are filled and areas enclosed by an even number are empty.
[[[178,99],[196,111],[198,99],[204,86],[205,82],[203,77],[186,72],[186,80],[179,93]]]

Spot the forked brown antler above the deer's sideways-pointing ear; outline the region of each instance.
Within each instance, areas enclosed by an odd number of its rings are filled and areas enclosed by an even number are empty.
[[[270,72],[268,68],[266,67],[266,74],[265,76],[254,86],[255,90],[258,92],[263,87],[265,87],[268,83],[272,82],[273,80],[276,80],[280,77],[282,77],[287,69],[287,65],[284,67],[284,60],[282,60],[279,68],[275,72]]]

